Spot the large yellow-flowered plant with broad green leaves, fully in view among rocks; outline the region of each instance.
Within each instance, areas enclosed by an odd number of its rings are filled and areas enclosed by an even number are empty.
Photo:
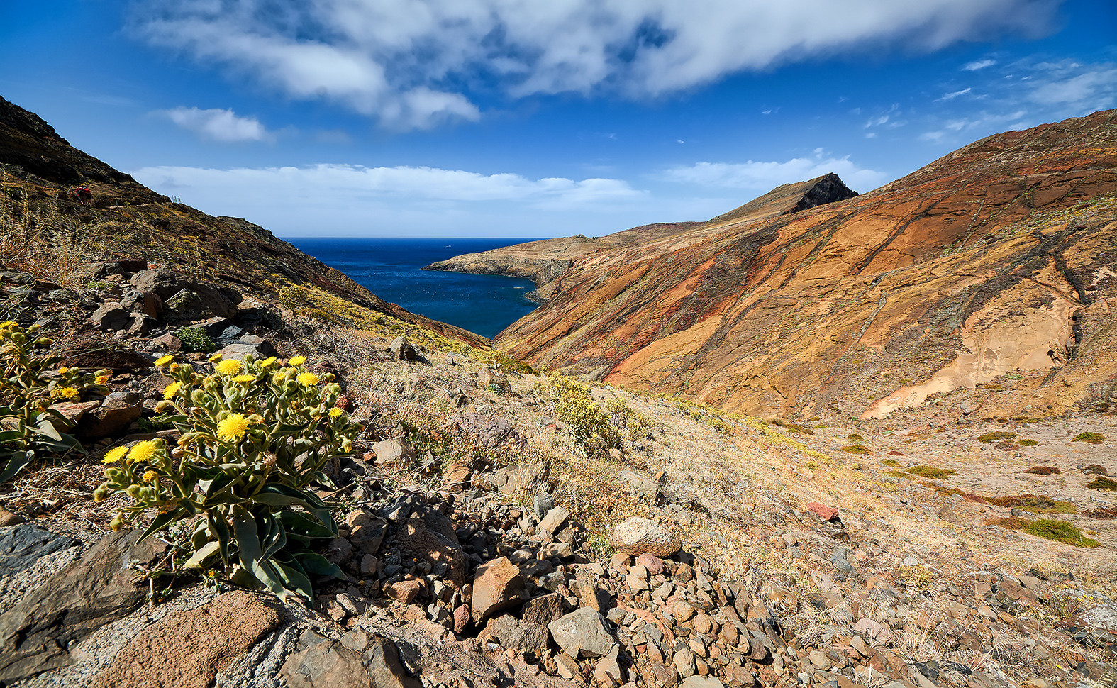
[[[188,567],[220,556],[235,582],[313,599],[309,574],[341,571],[306,548],[337,536],[328,507],[309,487],[330,485],[323,467],[352,451],[360,426],[335,408],[341,388],[333,375],[305,370],[303,356],[286,365],[251,356],[210,362],[213,372],[204,375],[172,356],[155,362],[171,380],[157,410],[170,413],[181,439],[174,447],[152,439],[109,450],[94,498],[133,499],[113,518],[114,529],[159,509],[141,539],[201,515]]]

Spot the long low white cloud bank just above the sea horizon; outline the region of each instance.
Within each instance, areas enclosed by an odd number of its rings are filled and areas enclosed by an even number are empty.
[[[155,166],[130,173],[206,212],[245,217],[287,236],[537,236],[551,214],[565,218],[566,227],[599,213],[618,222],[610,213],[631,213],[647,197],[618,179],[532,180],[437,168]]]

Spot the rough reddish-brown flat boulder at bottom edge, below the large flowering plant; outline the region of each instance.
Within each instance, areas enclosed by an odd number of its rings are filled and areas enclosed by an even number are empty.
[[[97,675],[93,688],[208,688],[219,671],[277,625],[274,603],[244,591],[227,592],[141,631]]]

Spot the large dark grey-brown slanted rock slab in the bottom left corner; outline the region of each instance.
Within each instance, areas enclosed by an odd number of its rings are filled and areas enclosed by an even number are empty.
[[[151,561],[163,544],[153,537],[137,546],[139,537],[139,531],[105,536],[0,615],[0,681],[70,663],[67,648],[146,600],[130,564]]]

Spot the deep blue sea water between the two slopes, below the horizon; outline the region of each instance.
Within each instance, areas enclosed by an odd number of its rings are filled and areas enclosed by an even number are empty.
[[[535,288],[529,279],[421,269],[436,260],[534,239],[299,237],[287,241],[386,302],[481,336],[496,336],[537,305],[524,296]]]

